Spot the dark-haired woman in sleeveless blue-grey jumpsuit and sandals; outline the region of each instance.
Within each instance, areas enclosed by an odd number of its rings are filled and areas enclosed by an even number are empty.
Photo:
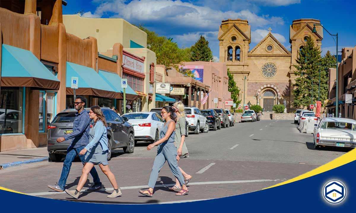
[[[176,176],[176,178],[179,180],[179,184],[182,186],[182,190],[176,193],[176,195],[187,195],[188,189],[184,183],[184,177],[182,175],[182,172],[178,168],[177,147],[174,145],[174,136],[176,129],[176,117],[174,116],[174,110],[170,106],[163,107],[161,115],[162,118],[166,120],[166,123],[161,129],[161,132],[159,133],[160,139],[147,146],[147,150],[151,150],[153,147],[158,145],[157,155],[155,158],[155,162],[152,166],[150,180],[148,181],[149,189],[145,191],[140,190],[138,192],[140,192],[142,195],[152,197],[153,189],[156,185],[156,181],[158,178],[158,173],[163,167],[164,163],[166,163],[167,161],[173,175]]]

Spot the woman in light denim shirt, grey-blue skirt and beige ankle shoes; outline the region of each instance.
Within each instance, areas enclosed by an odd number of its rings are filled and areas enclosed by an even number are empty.
[[[114,190],[109,198],[114,198],[120,196],[121,190],[117,186],[117,182],[114,174],[112,174],[108,165],[108,137],[106,136],[106,121],[103,112],[99,106],[94,106],[90,108],[89,111],[90,119],[94,120],[93,127],[90,129],[90,143],[85,146],[79,155],[85,155],[85,163],[82,169],[82,176],[80,176],[78,186],[75,190],[68,190],[68,195],[78,199],[80,195],[80,190],[82,190],[85,182],[87,182],[88,174],[94,165],[99,165],[101,171],[108,177]]]

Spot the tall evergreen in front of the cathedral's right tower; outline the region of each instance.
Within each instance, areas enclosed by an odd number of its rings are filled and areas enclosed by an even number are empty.
[[[323,60],[321,59],[320,49],[315,47],[310,37],[307,37],[307,44],[299,51],[298,56],[297,65],[293,65],[296,69],[294,75],[298,76],[293,84],[293,105],[294,107],[304,107],[318,100],[319,62],[323,63]],[[323,69],[323,67],[321,67],[321,69]],[[322,100],[322,102],[328,93],[327,81],[327,76],[323,69],[320,73],[320,100]]]

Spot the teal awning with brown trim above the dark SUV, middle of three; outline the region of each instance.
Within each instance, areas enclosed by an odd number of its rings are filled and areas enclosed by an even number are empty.
[[[94,95],[104,98],[115,98],[115,91],[106,81],[91,67],[74,64],[67,61],[66,91],[67,95],[73,94],[70,88],[71,78],[78,77],[77,95]]]

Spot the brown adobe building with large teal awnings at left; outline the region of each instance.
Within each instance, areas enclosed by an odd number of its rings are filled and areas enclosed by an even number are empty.
[[[87,107],[122,99],[122,58],[98,55],[94,37],[66,32],[65,1],[0,1],[0,152],[46,146],[47,125],[73,105],[71,77]],[[112,47],[122,52],[122,45]],[[143,59],[141,59],[143,60]],[[127,88],[127,99],[138,94]]]

